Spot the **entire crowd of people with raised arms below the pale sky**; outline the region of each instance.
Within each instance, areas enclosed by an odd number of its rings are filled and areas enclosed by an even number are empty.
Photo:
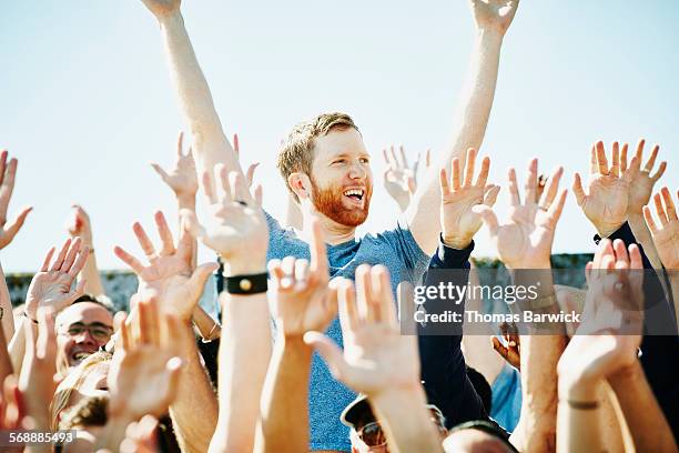
[[[155,212],[159,241],[142,222],[132,228],[144,258],[114,249],[139,280],[124,311],[107,298],[79,205],[13,316],[1,275],[0,431],[16,435],[0,447],[678,450],[679,220],[673,191],[656,187],[667,168],[656,165],[659,147],[645,155],[643,140],[634,151],[597,141],[586,187],[575,173],[582,221],[597,233],[584,290],[555,284],[550,272],[564,168],[547,177],[533,159],[523,190],[510,168],[509,215],[494,211],[500,185],[478,150],[518,0],[470,0],[475,50],[452,143],[415,163],[403,148],[383,151],[384,188],[401,212],[395,205],[393,229],[363,236],[372,157],[352,118],[323,113],[282,141],[290,205],[277,221],[262,207],[265,188],[253,187],[256,165],[243,171],[237,137],[223,132],[180,0],[142,1],[160,23],[192,137],[185,147],[180,134],[172,169],[153,164],[175,194],[179,234]],[[27,209],[7,222],[17,163],[2,151],[0,249],[30,221]],[[568,308],[588,322],[503,324],[487,335],[430,334],[416,322],[418,311],[450,306],[430,295],[416,304],[414,286],[449,275],[478,284],[470,256],[483,224],[513,283],[538,288],[511,310]],[[217,260],[199,265],[199,246]],[[199,304],[212,284],[219,320]],[[483,303],[468,296],[456,310]]]

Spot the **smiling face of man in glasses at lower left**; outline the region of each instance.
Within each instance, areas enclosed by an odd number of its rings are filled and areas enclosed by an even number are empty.
[[[113,315],[99,300],[83,295],[54,320],[57,371],[68,373],[105,345],[113,334]]]

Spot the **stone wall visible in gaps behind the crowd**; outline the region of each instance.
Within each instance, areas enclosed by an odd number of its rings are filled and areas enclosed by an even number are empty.
[[[591,254],[555,254],[551,256],[554,269],[585,269],[585,264],[589,260],[591,260]],[[478,268],[503,268],[501,263],[494,259],[482,258],[475,259],[474,262]],[[14,273],[6,276],[12,305],[17,306],[26,301],[26,293],[32,276],[30,273]],[[107,295],[111,299],[115,309],[126,309],[130,296],[136,291],[136,276],[130,272],[103,271],[102,280]],[[582,274],[582,282],[584,280],[585,275]],[[579,283],[581,282],[572,282],[572,284]],[[201,305],[210,313],[215,313],[214,295],[214,285],[209,283],[201,300]]]

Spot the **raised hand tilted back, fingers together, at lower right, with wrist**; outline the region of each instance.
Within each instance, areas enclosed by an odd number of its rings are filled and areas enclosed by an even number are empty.
[[[570,386],[590,387],[637,361],[643,324],[642,269],[636,244],[628,254],[622,241],[601,241],[587,264],[582,322],[559,360],[559,384],[565,380]]]

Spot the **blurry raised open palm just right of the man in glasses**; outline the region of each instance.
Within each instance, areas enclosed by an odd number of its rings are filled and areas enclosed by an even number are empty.
[[[122,348],[115,349],[108,376],[109,412],[130,421],[166,413],[176,397],[182,366],[175,346],[181,342],[174,339],[190,335],[181,320],[161,313],[154,295],[140,300],[138,309],[132,325],[120,328]]]

